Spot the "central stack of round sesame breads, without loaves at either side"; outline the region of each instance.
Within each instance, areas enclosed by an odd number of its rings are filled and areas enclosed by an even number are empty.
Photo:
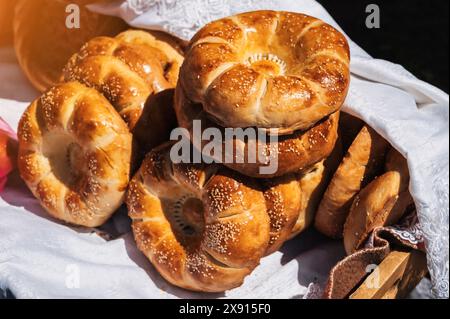
[[[200,291],[234,288],[309,226],[333,166],[325,160],[348,85],[345,37],[306,15],[250,12],[193,37],[174,108],[191,141],[203,141],[193,143],[195,151],[205,151],[210,140],[195,134],[208,128],[259,129],[277,141],[257,141],[256,152],[267,156],[254,161],[250,141],[236,138],[231,153],[224,141],[206,153],[220,165],[175,162],[170,143],[147,155],[127,204],[139,248],[168,281]],[[270,158],[278,165],[265,173]]]

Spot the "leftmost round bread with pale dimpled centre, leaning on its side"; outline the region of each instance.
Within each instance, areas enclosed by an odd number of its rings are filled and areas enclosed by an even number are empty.
[[[131,134],[97,91],[52,88],[25,111],[18,137],[20,175],[53,217],[95,227],[122,204]]]

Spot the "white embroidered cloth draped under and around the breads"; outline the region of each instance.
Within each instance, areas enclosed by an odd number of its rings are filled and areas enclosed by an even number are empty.
[[[307,13],[338,27],[313,0],[117,0],[91,6],[133,26],[184,39],[210,20],[263,8]],[[448,298],[448,95],[399,65],[371,58],[351,40],[350,46],[352,81],[344,110],[365,120],[407,157],[432,290],[435,297]],[[0,98],[8,99],[0,100],[0,116],[16,127],[24,102],[36,94],[14,63],[1,61],[0,56]],[[108,227],[124,235],[107,242],[51,221],[13,176],[0,194],[0,288],[11,289],[17,297],[212,297],[161,279],[137,251],[124,212]],[[308,231],[264,258],[242,287],[213,296],[300,298],[311,283],[322,283],[342,257],[341,243]]]

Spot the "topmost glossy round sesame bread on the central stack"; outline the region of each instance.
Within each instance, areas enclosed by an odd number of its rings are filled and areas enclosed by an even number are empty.
[[[194,36],[180,83],[221,126],[290,134],[339,110],[349,59],[345,37],[318,19],[248,12],[214,21]]]

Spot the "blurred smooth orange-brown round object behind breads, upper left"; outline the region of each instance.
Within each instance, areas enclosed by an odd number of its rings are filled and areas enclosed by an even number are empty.
[[[85,42],[96,36],[114,36],[127,29],[121,19],[99,15],[86,8],[96,1],[16,1],[14,46],[23,71],[38,90],[44,91],[59,82],[67,60]],[[73,5],[79,8],[79,20]]]

